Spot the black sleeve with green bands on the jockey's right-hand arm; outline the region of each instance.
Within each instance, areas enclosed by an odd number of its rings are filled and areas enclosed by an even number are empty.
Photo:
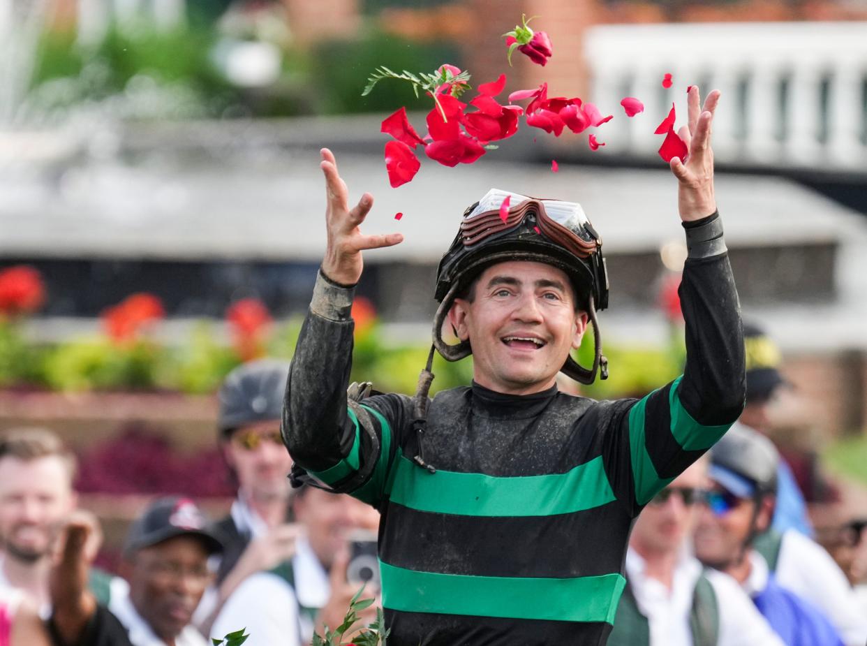
[[[740,303],[718,218],[695,223],[707,227],[697,242],[695,227],[686,227],[692,246],[679,290],[687,345],[683,375],[629,402],[606,438],[618,498],[634,514],[712,447],[743,410]]]

